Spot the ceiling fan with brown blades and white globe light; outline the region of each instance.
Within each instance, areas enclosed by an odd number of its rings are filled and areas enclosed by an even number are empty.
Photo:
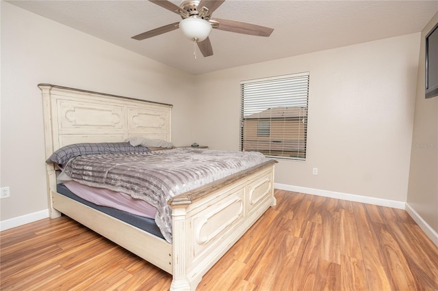
[[[168,0],[149,0],[162,8],[179,14],[183,20],[177,23],[171,23],[158,27],[137,36],[133,36],[134,40],[145,40],[153,36],[159,36],[162,33],[181,29],[183,34],[193,42],[198,44],[198,48],[204,57],[213,55],[213,48],[209,40],[209,33],[212,28],[223,31],[231,31],[235,33],[249,34],[251,36],[270,36],[274,29],[254,25],[250,23],[242,23],[240,21],[211,18],[211,14],[219,8],[225,0],[183,0],[179,6]]]

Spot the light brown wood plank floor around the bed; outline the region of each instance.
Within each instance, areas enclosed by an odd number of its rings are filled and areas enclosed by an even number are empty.
[[[438,248],[404,210],[276,191],[198,290],[438,290]],[[168,290],[171,276],[68,217],[1,236],[1,290]]]

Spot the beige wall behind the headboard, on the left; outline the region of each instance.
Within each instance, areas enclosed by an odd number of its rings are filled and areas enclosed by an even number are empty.
[[[193,77],[1,1],[0,220],[47,209],[38,83],[171,103],[172,140],[193,142]]]

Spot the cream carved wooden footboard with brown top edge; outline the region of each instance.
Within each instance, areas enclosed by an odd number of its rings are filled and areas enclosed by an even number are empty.
[[[195,290],[209,268],[276,204],[275,163],[268,161],[170,200],[174,256],[170,290]]]

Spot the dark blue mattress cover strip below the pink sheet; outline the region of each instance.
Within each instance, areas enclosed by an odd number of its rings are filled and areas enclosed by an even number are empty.
[[[96,204],[93,204],[91,202],[88,202],[81,197],[78,197],[73,192],[67,189],[64,184],[57,184],[56,186],[57,193],[60,193],[70,199],[73,199],[77,202],[80,202],[81,204],[85,204],[86,206],[90,206],[91,208],[94,208],[96,210],[99,210],[105,214],[108,214],[112,217],[115,217],[116,219],[119,219],[121,221],[125,221],[126,223],[133,225],[135,227],[140,228],[140,230],[144,230],[145,232],[149,232],[150,234],[153,234],[154,236],[158,236],[159,238],[164,238],[162,235],[162,232],[159,230],[157,225],[155,224],[154,219],[150,219],[147,217],[140,217],[138,215],[131,214],[129,212],[125,212],[122,210],[117,210],[111,207],[107,206],[99,206]]]

